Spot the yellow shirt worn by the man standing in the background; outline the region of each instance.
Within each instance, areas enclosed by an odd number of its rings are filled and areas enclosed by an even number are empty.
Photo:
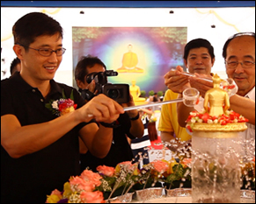
[[[165,92],[164,101],[177,99],[178,94],[173,93],[172,90],[168,89]],[[181,141],[187,141],[191,139],[191,136],[187,134],[187,130],[179,126],[178,115],[176,109],[177,103],[169,103],[162,105],[161,116],[158,123],[159,131],[174,131],[176,137]]]

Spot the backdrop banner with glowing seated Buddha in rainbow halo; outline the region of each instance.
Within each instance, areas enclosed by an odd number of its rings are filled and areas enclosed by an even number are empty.
[[[108,82],[130,85],[135,80],[146,93],[158,92],[167,89],[165,73],[178,65],[185,67],[187,27],[72,27],[72,43],[74,70],[82,56],[91,54],[107,70],[118,72]]]

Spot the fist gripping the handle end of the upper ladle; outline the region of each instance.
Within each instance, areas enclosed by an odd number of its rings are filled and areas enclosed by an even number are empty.
[[[186,88],[190,88],[187,75],[181,74],[183,68],[176,67],[176,70],[171,70],[165,74],[165,85],[174,93],[182,93]]]

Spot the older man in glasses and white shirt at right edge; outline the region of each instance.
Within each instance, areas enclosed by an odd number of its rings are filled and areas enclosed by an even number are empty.
[[[223,46],[223,58],[226,66],[226,74],[238,85],[238,93],[230,96],[230,109],[245,116],[249,121],[248,129],[242,135],[246,140],[245,155],[248,160],[255,157],[255,32],[239,32],[226,41]],[[165,74],[165,85],[172,89],[172,82],[183,80],[177,86],[190,86],[200,91],[202,97],[212,87],[212,82],[201,80],[199,77],[188,77],[183,74]],[[198,75],[198,74],[195,74]],[[203,77],[203,74],[200,74]],[[210,77],[205,75],[204,77]],[[168,86],[169,85],[169,86]],[[172,85],[172,86],[171,86]],[[182,97],[179,95],[178,97]],[[195,107],[194,107],[195,108]],[[194,110],[187,107],[183,102],[177,103],[179,125],[186,126],[187,116]]]

